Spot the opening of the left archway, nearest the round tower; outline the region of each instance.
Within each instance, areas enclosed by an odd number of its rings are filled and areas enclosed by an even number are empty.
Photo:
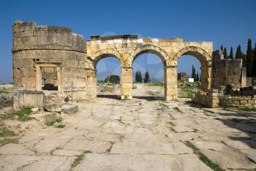
[[[104,56],[95,66],[97,75],[97,96],[120,99],[121,63],[114,56]]]

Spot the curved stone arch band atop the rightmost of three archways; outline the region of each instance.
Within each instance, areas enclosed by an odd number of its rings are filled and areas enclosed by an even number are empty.
[[[178,53],[176,53],[173,56],[174,64],[177,64],[177,63],[175,63],[175,61],[177,62],[178,58],[181,56],[184,56],[184,55],[194,56],[195,58],[197,58],[200,61],[202,66],[203,65],[206,65],[206,66],[211,65],[211,55],[209,55],[206,52],[206,50],[204,50],[200,47],[195,47],[195,46],[187,46],[187,47],[184,47],[181,50],[179,50]]]

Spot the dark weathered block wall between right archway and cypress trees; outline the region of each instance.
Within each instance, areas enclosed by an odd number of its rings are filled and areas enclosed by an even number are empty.
[[[241,87],[242,60],[241,59],[222,59],[219,52],[214,52],[213,61],[213,83],[212,88],[234,84]]]

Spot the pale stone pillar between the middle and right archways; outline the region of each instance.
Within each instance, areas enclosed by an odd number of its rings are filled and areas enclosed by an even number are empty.
[[[177,66],[165,66],[165,100],[177,99]]]

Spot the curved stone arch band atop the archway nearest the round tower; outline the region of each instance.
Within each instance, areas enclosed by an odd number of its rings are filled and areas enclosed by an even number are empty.
[[[97,63],[102,59],[102,58],[107,58],[113,56],[114,58],[117,58],[121,66],[126,66],[126,61],[124,60],[123,56],[121,53],[118,53],[116,50],[111,50],[111,49],[105,49],[105,50],[99,50],[96,53],[94,53],[91,57],[91,60],[94,61],[94,68],[96,68]]]

